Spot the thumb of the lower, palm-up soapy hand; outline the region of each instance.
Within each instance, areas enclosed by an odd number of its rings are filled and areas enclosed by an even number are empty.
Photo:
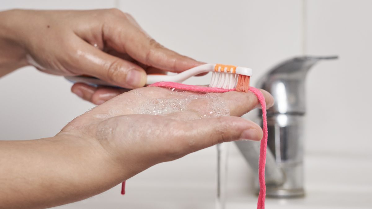
[[[212,145],[238,139],[259,141],[263,132],[256,123],[239,117],[225,116],[183,122],[183,131],[179,131],[173,144],[181,148],[183,154],[195,152]],[[179,126],[181,127],[181,126]]]

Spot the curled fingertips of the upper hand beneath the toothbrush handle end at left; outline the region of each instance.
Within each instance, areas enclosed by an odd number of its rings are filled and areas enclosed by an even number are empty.
[[[96,88],[84,83],[76,83],[73,85],[73,87],[71,87],[71,91],[84,100],[92,102],[95,105],[100,105],[113,97],[128,91],[128,89],[111,87]]]

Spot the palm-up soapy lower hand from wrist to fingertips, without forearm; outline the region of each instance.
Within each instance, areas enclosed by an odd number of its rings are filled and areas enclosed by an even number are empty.
[[[271,107],[272,96],[264,90],[262,92],[267,107]],[[209,99],[195,95],[199,94],[176,93],[159,87],[132,90],[77,117],[62,129],[60,135],[75,135],[99,141],[102,147],[114,156],[118,167],[122,167],[119,181],[128,179],[154,164],[175,160],[217,143],[240,138],[258,141],[262,138],[260,126],[234,117],[242,116],[259,106],[253,93],[230,91],[213,94]],[[221,100],[212,101],[213,96],[216,97],[214,99]],[[182,103],[185,98],[191,98],[185,103],[186,106],[177,106],[177,103]],[[163,109],[161,102],[164,101],[172,103],[169,105],[176,109]],[[210,106],[221,103],[230,110],[231,116],[208,117],[212,113]],[[174,111],[179,109],[182,111]],[[162,111],[168,113],[137,115]]]

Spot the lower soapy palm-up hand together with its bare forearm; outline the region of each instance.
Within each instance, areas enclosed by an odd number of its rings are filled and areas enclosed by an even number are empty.
[[[270,94],[263,94],[267,107],[272,106]],[[257,105],[256,96],[249,92],[207,98],[143,87],[78,116],[54,137],[0,141],[0,208],[50,208],[75,202],[157,163],[217,143],[260,140],[262,130],[257,124],[236,117]],[[231,116],[208,117],[214,110],[224,115],[227,108]],[[165,110],[170,113],[137,115]]]

